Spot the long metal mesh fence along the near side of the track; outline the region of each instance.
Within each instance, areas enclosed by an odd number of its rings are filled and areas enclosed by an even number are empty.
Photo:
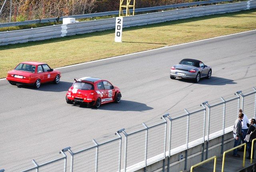
[[[146,169],[150,164],[160,160],[164,162],[166,156],[169,162],[170,157],[176,158],[178,153],[184,151],[186,152],[183,157],[186,170],[188,149],[198,150],[199,147],[199,155],[202,154],[201,157],[204,160],[204,151],[206,151],[205,159],[207,159],[210,140],[220,136],[223,138],[224,134],[231,134],[233,141],[233,135],[230,132],[238,117],[238,109],[244,106],[246,107],[244,113],[246,113],[246,110],[250,112],[250,109],[256,108],[256,89],[246,90],[243,95],[241,93],[242,91],[238,91],[220,98],[221,101],[204,102],[200,106],[166,114],[140,125],[121,129],[115,134],[104,135],[90,142],[62,149],[57,154],[37,158],[29,163],[10,168],[6,172],[134,172],[143,168],[151,172]],[[254,98],[245,100],[246,95],[253,95]],[[244,99],[241,102],[242,96]],[[219,125],[217,125],[218,121],[213,120],[214,118],[218,119]],[[222,123],[222,120],[225,123]],[[167,125],[169,125],[168,131]],[[206,141],[206,149],[204,141]],[[223,151],[224,139],[221,142]],[[65,154],[66,151],[70,154]],[[67,156],[70,157],[70,164],[67,164]],[[69,167],[70,169],[67,170]]]

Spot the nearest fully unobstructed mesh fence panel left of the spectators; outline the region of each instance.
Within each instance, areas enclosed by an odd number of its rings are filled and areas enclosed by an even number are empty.
[[[223,109],[224,102],[210,107],[209,140],[223,135]]]

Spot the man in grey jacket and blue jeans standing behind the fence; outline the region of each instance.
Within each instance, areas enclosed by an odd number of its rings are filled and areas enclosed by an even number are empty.
[[[236,119],[236,121],[234,123],[234,128],[233,128],[233,134],[234,134],[234,138],[235,138],[234,147],[237,147],[241,141],[243,117],[244,117],[244,114],[240,112],[238,114],[238,119]],[[237,154],[237,149],[234,149],[233,156],[240,157],[240,155]]]

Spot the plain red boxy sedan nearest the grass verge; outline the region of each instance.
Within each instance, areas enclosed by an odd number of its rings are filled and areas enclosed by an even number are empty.
[[[53,70],[45,63],[22,62],[14,70],[8,72],[6,80],[12,85],[33,85],[39,88],[41,83],[60,82],[60,71]]]

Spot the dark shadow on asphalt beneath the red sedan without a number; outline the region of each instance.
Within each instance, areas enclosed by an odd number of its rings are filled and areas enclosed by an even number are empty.
[[[59,84],[53,84],[51,82],[41,84],[40,88],[36,89],[33,86],[26,86],[26,85],[18,85],[18,88],[26,88],[26,89],[32,89],[32,90],[37,90],[37,91],[45,91],[45,92],[63,92],[63,91],[68,91],[68,88],[72,86],[73,82],[65,82],[65,81],[60,81]]]

